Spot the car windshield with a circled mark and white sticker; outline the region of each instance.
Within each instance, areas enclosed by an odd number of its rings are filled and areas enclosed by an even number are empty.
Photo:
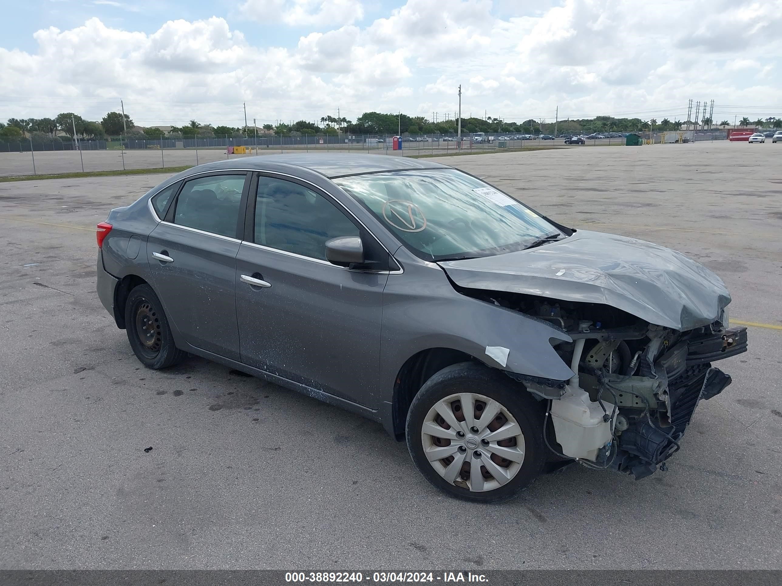
[[[455,169],[373,173],[334,180],[426,260],[514,252],[561,236],[532,209]]]

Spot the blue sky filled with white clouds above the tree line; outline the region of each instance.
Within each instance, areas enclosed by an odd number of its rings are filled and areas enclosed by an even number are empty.
[[[0,120],[782,117],[782,0],[3,0]]]

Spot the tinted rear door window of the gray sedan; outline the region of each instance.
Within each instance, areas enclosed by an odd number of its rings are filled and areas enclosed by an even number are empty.
[[[174,223],[236,238],[245,175],[211,175],[189,180],[177,198]]]

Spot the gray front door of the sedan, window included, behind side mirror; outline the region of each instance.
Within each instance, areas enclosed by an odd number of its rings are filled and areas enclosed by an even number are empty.
[[[325,242],[360,236],[386,269],[388,253],[313,185],[260,176],[253,191],[236,263],[242,362],[376,408],[388,271],[335,266]]]

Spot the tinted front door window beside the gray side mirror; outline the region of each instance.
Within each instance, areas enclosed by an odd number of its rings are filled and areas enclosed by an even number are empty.
[[[291,181],[258,178],[256,244],[325,260],[327,240],[358,235],[357,226],[322,195]]]

